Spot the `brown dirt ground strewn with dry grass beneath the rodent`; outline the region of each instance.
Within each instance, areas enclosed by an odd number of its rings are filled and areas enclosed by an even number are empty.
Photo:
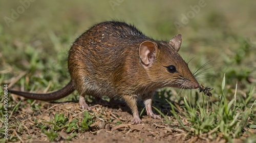
[[[33,111],[31,107],[37,104],[42,106],[38,111]],[[31,105],[24,106],[25,108],[14,112],[11,119],[13,124],[16,124],[17,121],[21,123],[19,130],[22,130],[19,133],[13,131],[13,134],[15,133],[21,142],[49,142],[47,136],[40,131],[39,127],[35,126],[35,119],[41,123],[41,121],[50,121],[50,118],[54,120],[55,113],[63,113],[64,117],[69,118],[69,122],[78,119],[77,124],[80,124],[84,117],[84,110],[79,109],[78,103],[74,102],[35,101]],[[172,124],[163,123],[163,120],[152,119],[146,115],[142,116],[142,124],[132,124],[130,122],[132,115],[126,106],[108,107],[95,104],[92,105],[92,111],[89,113],[93,117],[93,124],[86,132],[78,131],[77,135],[69,142],[225,142],[221,134],[217,138],[210,134],[187,135],[187,131],[179,128],[179,123],[172,116],[168,116],[169,120],[173,121]],[[184,125],[189,126],[185,119],[182,121]],[[53,142],[67,142],[68,134],[65,130],[58,133],[59,136]],[[234,142],[242,142],[242,140],[236,139]]]

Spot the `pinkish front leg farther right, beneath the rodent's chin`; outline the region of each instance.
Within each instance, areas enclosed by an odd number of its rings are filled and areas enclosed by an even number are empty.
[[[142,100],[146,107],[146,114],[154,119],[160,119],[160,115],[155,115],[152,111],[152,98],[154,96],[154,92],[148,92],[147,94],[144,94],[142,97]]]

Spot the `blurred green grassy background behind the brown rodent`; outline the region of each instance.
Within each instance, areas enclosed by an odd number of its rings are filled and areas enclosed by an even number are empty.
[[[133,23],[155,39],[169,40],[182,34],[179,53],[185,61],[193,58],[191,71],[211,60],[201,74],[207,78],[199,77],[201,84],[214,88],[211,101],[219,99],[226,73],[227,100],[233,99],[238,81],[237,102],[242,103],[256,83],[256,3],[205,1],[205,6],[177,29],[175,21],[182,23],[183,15],[200,2],[35,1],[13,18],[12,10],[17,11],[22,3],[1,1],[0,83],[18,80],[10,88],[33,92],[43,92],[48,85],[48,91],[60,89],[69,81],[67,53],[72,42],[95,23],[114,19]],[[13,19],[9,26],[5,17]],[[19,79],[19,75],[23,76]],[[172,94],[177,101],[188,93],[176,91],[178,96]],[[74,97],[76,93],[68,98]],[[253,93],[248,106],[255,99]],[[255,124],[255,117],[251,124]]]

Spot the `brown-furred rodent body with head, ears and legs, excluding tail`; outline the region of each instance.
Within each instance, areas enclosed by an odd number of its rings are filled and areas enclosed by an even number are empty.
[[[83,109],[90,110],[84,99],[86,95],[120,97],[132,109],[133,122],[141,123],[136,105],[141,97],[147,114],[160,118],[151,109],[156,89],[199,87],[177,53],[180,44],[181,35],[170,42],[156,41],[124,22],[96,24],[83,33],[69,51],[68,67],[73,84],[70,88],[80,94],[79,104]],[[168,72],[169,65],[174,65],[177,72]]]

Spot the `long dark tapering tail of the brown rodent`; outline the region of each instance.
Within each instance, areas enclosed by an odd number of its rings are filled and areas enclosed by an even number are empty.
[[[23,96],[28,99],[51,101],[51,100],[57,100],[57,99],[66,97],[70,95],[74,90],[75,89],[73,87],[72,81],[69,81],[69,83],[64,88],[56,92],[47,93],[47,94],[36,94],[36,93],[28,93],[28,92],[13,91],[13,90],[8,90],[8,92]]]

